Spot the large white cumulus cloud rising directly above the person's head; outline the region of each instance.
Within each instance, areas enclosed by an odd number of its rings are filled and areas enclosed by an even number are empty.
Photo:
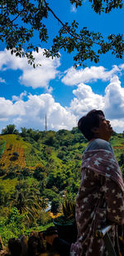
[[[91,87],[83,83],[79,84],[73,93],[75,97],[71,100],[68,110],[77,118],[92,109],[102,109],[118,133],[124,130],[124,88],[117,76],[110,80],[104,96],[93,93]]]

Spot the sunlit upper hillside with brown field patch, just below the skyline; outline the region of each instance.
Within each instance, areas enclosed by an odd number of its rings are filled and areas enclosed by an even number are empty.
[[[111,139],[116,157],[119,159],[124,150],[124,137],[115,133]],[[37,164],[48,165],[51,160],[56,165],[68,165],[69,161],[81,159],[87,141],[77,128],[72,131],[39,132],[31,129],[26,134],[0,135],[0,169],[34,170]]]

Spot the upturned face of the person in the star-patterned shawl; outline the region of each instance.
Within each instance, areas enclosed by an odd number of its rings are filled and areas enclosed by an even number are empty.
[[[95,128],[94,132],[98,138],[102,138],[108,142],[113,133],[110,121],[103,117],[103,115],[99,115],[99,127]]]

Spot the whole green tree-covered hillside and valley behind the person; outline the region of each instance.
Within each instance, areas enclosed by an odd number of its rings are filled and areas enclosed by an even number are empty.
[[[124,133],[111,138],[124,170]],[[87,140],[78,128],[44,131],[7,125],[0,135],[0,235],[11,237],[53,225],[64,200],[74,202]],[[47,209],[50,209],[47,211]]]

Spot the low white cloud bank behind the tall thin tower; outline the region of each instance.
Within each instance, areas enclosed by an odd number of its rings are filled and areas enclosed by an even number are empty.
[[[15,123],[17,128],[45,130],[45,114],[48,129],[71,129],[76,125],[74,114],[56,103],[50,94],[29,94],[26,101],[23,101],[20,96],[15,103],[0,98],[1,125],[2,121],[6,121],[6,123]]]

